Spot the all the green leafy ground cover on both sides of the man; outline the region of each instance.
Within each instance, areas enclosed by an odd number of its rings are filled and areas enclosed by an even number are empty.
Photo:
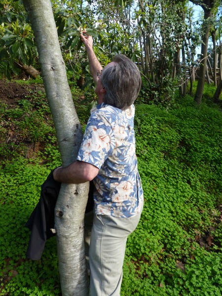
[[[76,105],[84,128],[88,107]],[[49,109],[43,94],[0,108],[1,139],[17,131],[1,141],[0,296],[61,295],[55,237],[41,260],[26,259],[25,223],[60,164]],[[222,295],[221,126],[220,110],[188,96],[168,111],[136,106],[145,205],[128,239],[121,296]],[[40,147],[29,154],[34,143]]]

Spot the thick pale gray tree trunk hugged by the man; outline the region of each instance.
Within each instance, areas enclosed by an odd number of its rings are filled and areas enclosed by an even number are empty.
[[[34,30],[41,74],[55,125],[63,166],[72,163],[82,141],[50,0],[24,0]],[[87,185],[86,185],[87,184]],[[55,208],[55,228],[62,294],[88,296],[84,252],[84,212],[88,183],[62,184]]]

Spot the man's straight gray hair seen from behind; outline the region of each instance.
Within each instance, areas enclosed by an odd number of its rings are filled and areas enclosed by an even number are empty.
[[[104,102],[126,110],[136,100],[141,88],[141,74],[136,64],[125,55],[114,57],[113,66],[105,68],[101,82],[106,89]]]

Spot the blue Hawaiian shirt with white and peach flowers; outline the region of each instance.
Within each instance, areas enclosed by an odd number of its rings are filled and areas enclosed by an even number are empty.
[[[95,214],[128,218],[138,214],[143,189],[137,169],[134,105],[122,111],[100,104],[91,111],[77,160],[99,168]]]

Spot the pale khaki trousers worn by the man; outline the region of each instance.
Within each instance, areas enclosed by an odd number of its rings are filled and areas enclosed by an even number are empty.
[[[127,237],[137,227],[140,216],[94,215],[89,247],[90,296],[120,295]]]

